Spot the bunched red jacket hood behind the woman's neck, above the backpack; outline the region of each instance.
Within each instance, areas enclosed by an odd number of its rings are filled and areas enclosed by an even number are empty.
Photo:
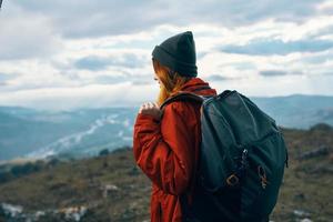
[[[193,92],[200,95],[216,95],[216,90],[211,88],[208,82],[203,81],[201,78],[198,77],[190,79],[182,85],[180,90]]]

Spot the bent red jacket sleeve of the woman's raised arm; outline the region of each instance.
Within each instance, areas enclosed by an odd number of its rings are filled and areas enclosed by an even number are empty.
[[[191,113],[192,111],[192,113]],[[161,122],[139,113],[134,124],[133,152],[137,164],[165,193],[183,193],[194,165],[194,110],[173,102]]]

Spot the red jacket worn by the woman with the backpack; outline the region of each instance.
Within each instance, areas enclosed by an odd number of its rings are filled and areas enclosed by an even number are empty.
[[[209,85],[200,78],[189,80],[182,91]],[[214,89],[195,91],[215,95]],[[164,108],[161,121],[139,113],[133,132],[137,164],[152,181],[151,221],[181,222],[179,195],[189,192],[196,169],[201,141],[200,104],[175,101]]]

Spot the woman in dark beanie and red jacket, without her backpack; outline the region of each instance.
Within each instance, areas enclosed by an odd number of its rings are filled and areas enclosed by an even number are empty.
[[[179,91],[215,95],[198,78],[195,44],[191,31],[173,36],[152,52],[154,80],[160,84],[157,102],[141,105],[133,132],[137,164],[152,181],[151,221],[180,222],[180,195],[191,203],[201,139],[200,103],[174,101],[160,105]]]

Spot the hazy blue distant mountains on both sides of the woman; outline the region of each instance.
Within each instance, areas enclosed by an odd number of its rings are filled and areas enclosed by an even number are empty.
[[[320,122],[333,125],[333,97],[251,99],[285,128],[309,129]],[[133,107],[56,112],[0,107],[0,161],[59,154],[80,158],[102,149],[131,145],[138,110]]]

